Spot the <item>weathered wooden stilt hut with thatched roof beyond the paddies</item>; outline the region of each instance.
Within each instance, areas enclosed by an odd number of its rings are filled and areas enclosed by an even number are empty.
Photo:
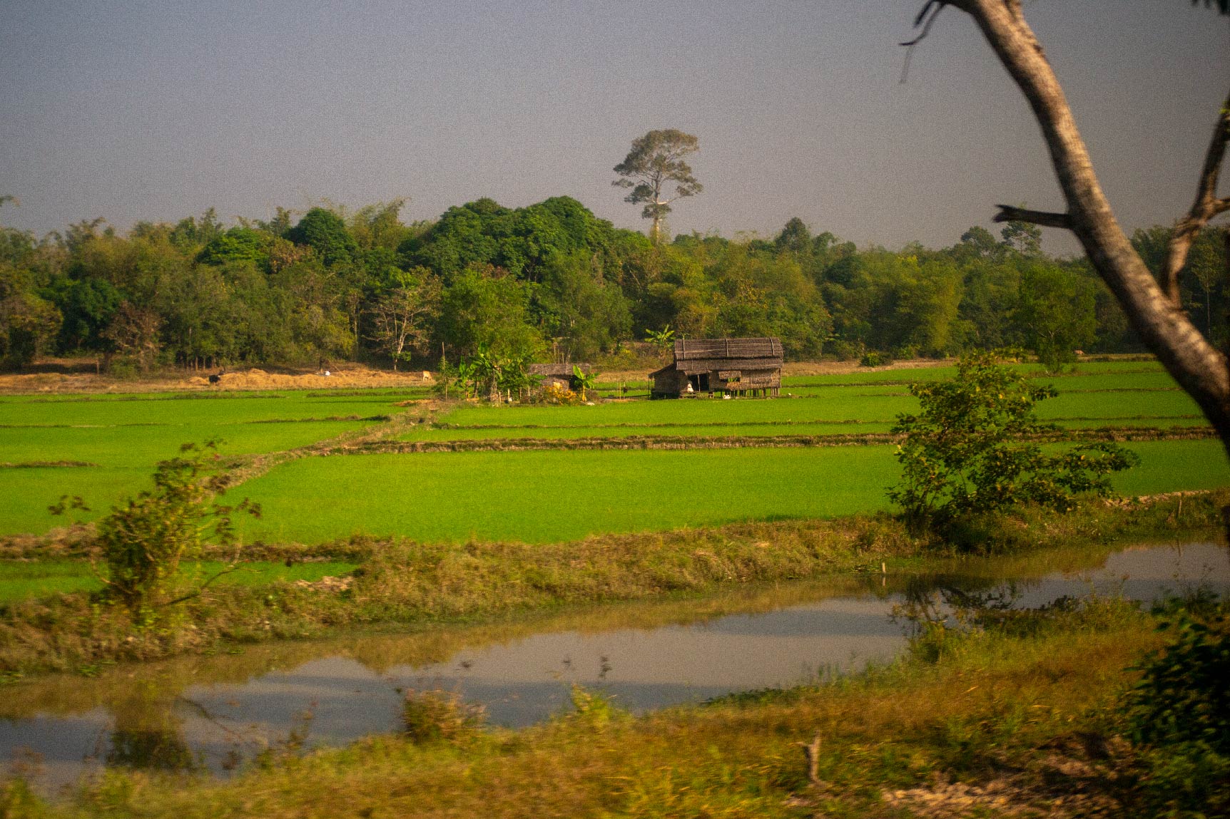
[[[777,396],[782,352],[777,338],[680,338],[674,360],[649,373],[649,397],[688,395]]]

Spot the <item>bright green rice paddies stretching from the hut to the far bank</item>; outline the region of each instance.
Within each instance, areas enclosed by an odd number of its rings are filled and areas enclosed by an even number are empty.
[[[1082,364],[1073,374],[1018,369],[1059,395],[1038,414],[1060,427],[1166,430],[1204,427],[1194,402],[1156,364]],[[353,435],[406,441],[738,439],[732,449],[403,453],[288,457],[232,489],[264,507],[245,537],[320,542],[363,532],[422,541],[552,542],[734,520],[833,516],[887,508],[892,445],[764,448],[756,438],[884,433],[918,402],[924,368],[787,378],[782,398],[599,401],[595,406],[486,406],[438,413],[407,390],[196,392],[0,397],[0,534],[68,523],[47,512],[81,496],[97,518],[148,486],[154,464],[182,443],[220,440],[225,455],[296,450]],[[796,397],[785,397],[793,394]],[[418,423],[424,422],[424,423]],[[1132,444],[1143,457],[1117,477],[1133,494],[1230,485],[1216,440]],[[0,590],[0,596],[2,596]]]

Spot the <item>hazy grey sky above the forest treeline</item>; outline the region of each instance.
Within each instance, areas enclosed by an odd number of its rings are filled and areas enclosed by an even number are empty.
[[[1061,209],[1037,125],[947,10],[899,84],[920,0],[0,0],[5,224],[321,198],[576,197],[645,229],[610,186],[635,136],[700,138],[676,232],[813,230],[950,245],[996,202]],[[1230,21],[1187,0],[1032,0],[1125,228],[1189,207],[1230,84]],[[1230,176],[1228,173],[1226,176]],[[1054,251],[1075,245],[1047,231]]]

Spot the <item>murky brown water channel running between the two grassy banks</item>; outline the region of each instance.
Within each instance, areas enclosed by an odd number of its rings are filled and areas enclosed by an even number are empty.
[[[501,726],[549,718],[567,706],[573,682],[637,711],[888,659],[905,639],[893,607],[937,593],[948,605],[1007,609],[1090,592],[1149,600],[1196,584],[1230,590],[1225,548],[958,561],[903,577],[734,589],[498,626],[257,646],[9,687],[0,753],[12,760],[31,749],[50,781],[101,764],[224,771],[271,745],[395,730],[410,689],[458,691]]]

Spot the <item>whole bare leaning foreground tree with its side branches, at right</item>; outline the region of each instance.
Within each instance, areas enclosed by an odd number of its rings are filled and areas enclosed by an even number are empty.
[[[1205,0],[1205,5],[1210,2]],[[1230,12],[1228,0],[1216,0],[1216,5],[1221,14]],[[945,6],[974,18],[1000,63],[1025,93],[1042,128],[1068,205],[1061,213],[998,205],[1000,213],[995,220],[1026,221],[1073,231],[1098,275],[1114,293],[1133,330],[1200,406],[1230,454],[1230,366],[1226,355],[1182,311],[1177,284],[1194,236],[1210,219],[1230,210],[1230,197],[1218,197],[1216,193],[1218,175],[1230,143],[1230,98],[1218,112],[1197,180],[1196,200],[1177,221],[1159,284],[1111,210],[1064,90],[1042,43],[1025,20],[1021,1],[927,0],[915,20],[915,25],[922,27],[921,36],[926,34],[935,15]]]

